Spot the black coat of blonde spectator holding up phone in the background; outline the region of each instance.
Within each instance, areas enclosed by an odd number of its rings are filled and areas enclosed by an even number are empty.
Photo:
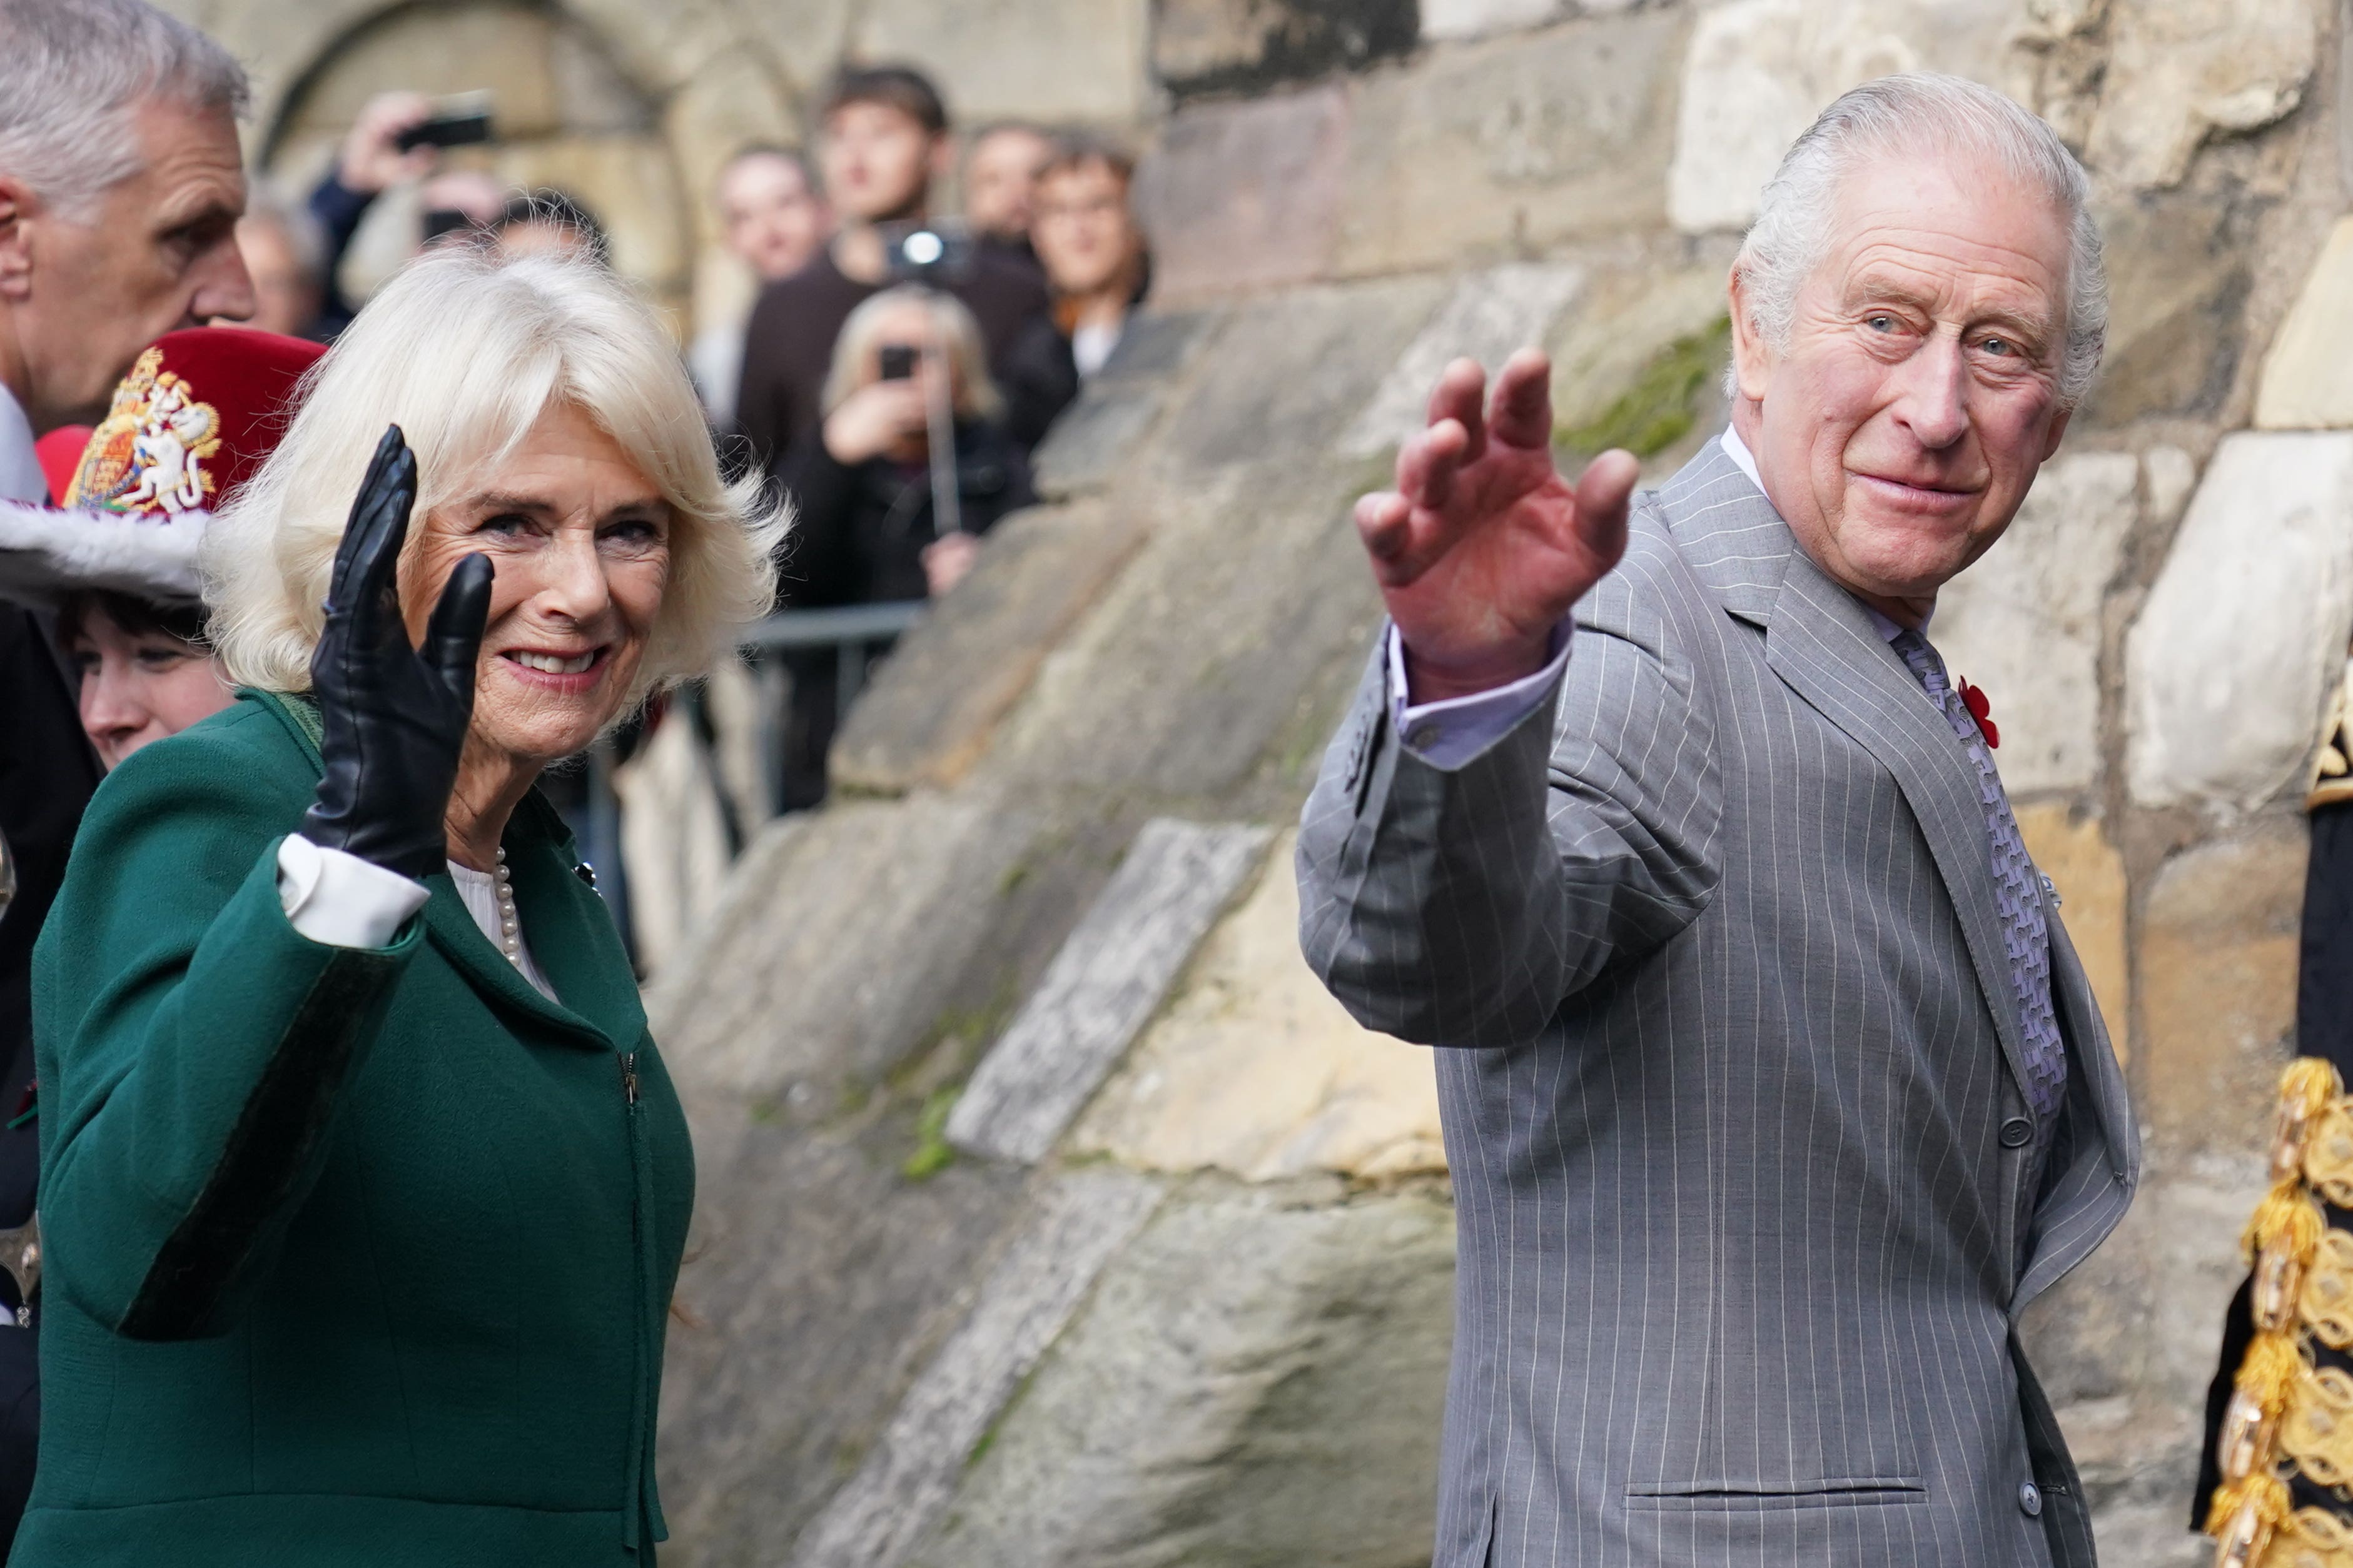
[[[922,550],[939,529],[932,520],[932,470],[889,458],[845,465],[819,433],[809,433],[776,463],[776,484],[793,498],[793,531],[784,543],[779,609],[885,604],[927,599]],[[995,423],[955,428],[955,489],[967,534],[986,534],[1007,512],[1031,505],[1028,458]],[[838,654],[809,649],[786,656],[793,672],[793,712],[784,726],[786,811],[826,797],[826,750],[840,724]]]

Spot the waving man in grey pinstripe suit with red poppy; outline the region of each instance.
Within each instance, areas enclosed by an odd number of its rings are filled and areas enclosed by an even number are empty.
[[[1438,1568],[2094,1561],[2017,1324],[2139,1140],[1927,642],[2097,369],[2085,202],[2000,94],[1868,82],[1767,186],[1682,473],[1572,487],[1522,350],[1492,400],[1449,367],[1358,503],[1391,623],[1301,943],[1442,1046]]]

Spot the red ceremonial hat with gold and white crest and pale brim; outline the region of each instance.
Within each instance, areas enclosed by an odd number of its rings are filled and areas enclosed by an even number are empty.
[[[322,353],[247,327],[155,339],[115,386],[59,505],[0,501],[0,595],[45,604],[106,588],[162,604],[200,599],[205,524],[278,447]]]

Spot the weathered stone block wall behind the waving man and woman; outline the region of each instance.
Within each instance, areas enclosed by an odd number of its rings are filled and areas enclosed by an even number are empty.
[[[391,26],[181,5],[261,68],[271,148],[332,129],[322,85],[358,80],[334,61]],[[736,139],[805,132],[845,54],[1151,148],[1160,303],[1045,451],[1049,503],[885,668],[838,804],[772,825],[656,980],[704,1164],[671,1556],[1426,1561],[1452,1276],[1428,1063],[1304,973],[1282,839],[1377,623],[1348,498],[1449,353],[1518,341],[1555,353],[1565,449],[1671,470],[1722,416],[1760,179],[1840,89],[1934,66],[2049,115],[2108,237],[2104,381],[1937,628],[1993,696],[2146,1128],[2139,1206],[2031,1335],[2108,1561],[2202,1561],[2195,1415],[2353,632],[2337,5],[508,9],[605,85],[612,127],[579,99],[551,139],[666,160],[635,188],[685,261],[649,277],[711,308],[734,284],[699,190]]]

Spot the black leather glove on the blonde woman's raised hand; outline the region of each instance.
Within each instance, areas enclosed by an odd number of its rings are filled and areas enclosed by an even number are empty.
[[[489,618],[487,555],[449,574],[421,649],[400,621],[395,571],[416,503],[416,456],[391,425],[334,552],[327,630],[311,654],[327,776],[301,835],[428,877],[449,858],[442,816],[473,719],[473,670]]]

